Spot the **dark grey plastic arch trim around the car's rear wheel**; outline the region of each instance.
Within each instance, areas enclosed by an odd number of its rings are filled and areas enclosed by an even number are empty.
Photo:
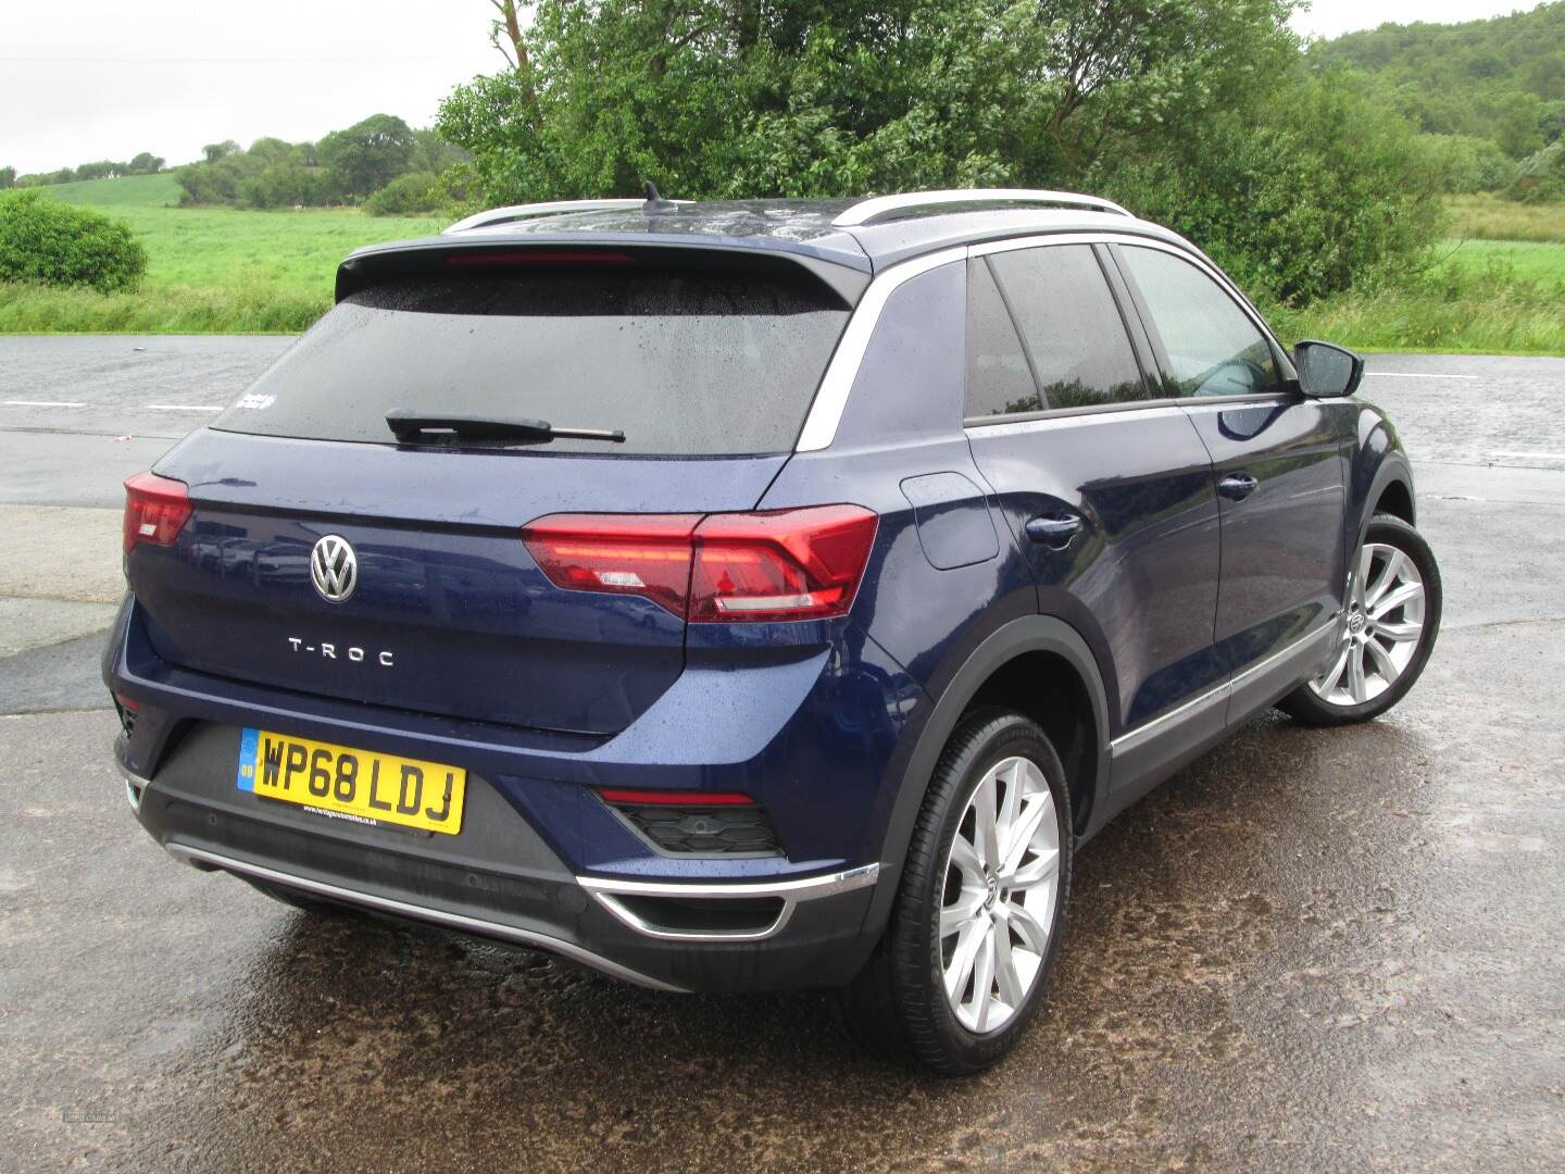
[[[1092,806],[1096,811],[1102,811],[1102,800],[1108,794],[1110,711],[1103,676],[1092,650],[1075,628],[1053,615],[1024,615],[1003,623],[984,637],[952,675],[939,697],[934,698],[922,726],[905,739],[903,747],[898,747],[892,759],[890,773],[901,781],[892,801],[886,839],[881,845],[880,883],[875,886],[875,899],[865,917],[865,928],[873,931],[872,936],[878,936],[884,930],[890,916],[912,828],[945,744],[983,684],[1005,664],[1027,653],[1060,656],[1075,670],[1086,689],[1097,726],[1094,733],[1099,751],[1096,756],[1097,776],[1092,780]]]

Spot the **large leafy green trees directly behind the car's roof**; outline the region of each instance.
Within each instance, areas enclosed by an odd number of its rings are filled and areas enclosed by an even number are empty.
[[[538,0],[440,133],[488,200],[1055,182],[1260,88],[1293,0]],[[518,58],[520,59],[520,58]]]

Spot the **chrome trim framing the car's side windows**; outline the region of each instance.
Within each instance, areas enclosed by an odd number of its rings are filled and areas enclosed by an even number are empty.
[[[887,197],[889,199],[889,197]],[[1127,244],[1141,249],[1158,249],[1161,252],[1180,257],[1197,269],[1205,272],[1218,286],[1227,293],[1244,315],[1255,324],[1261,335],[1277,349],[1279,354],[1286,354],[1282,343],[1277,341],[1277,335],[1272,333],[1266,319],[1260,316],[1249,299],[1239,291],[1233,282],[1224,277],[1211,261],[1202,257],[1194,247],[1182,247],[1169,241],[1161,241],[1155,236],[1141,236],[1138,233],[1117,233],[1117,232],[1060,232],[1060,233],[1034,233],[1030,236],[1013,236],[1003,241],[983,241],[981,244],[959,244],[950,249],[941,249],[939,252],[931,252],[925,257],[916,257],[901,265],[894,265],[884,272],[881,272],[873,282],[870,282],[869,290],[864,291],[864,297],[859,299],[858,307],[853,310],[853,318],[848,319],[847,330],[842,332],[842,340],[837,343],[837,349],[831,355],[831,362],[826,365],[826,374],[820,380],[820,390],[815,391],[815,399],[809,405],[809,415],[804,418],[804,427],[798,434],[798,441],[793,445],[795,452],[820,452],[822,449],[831,448],[831,441],[836,440],[837,427],[842,424],[842,413],[848,405],[848,394],[853,391],[853,384],[859,376],[859,368],[864,365],[864,355],[869,351],[870,338],[875,335],[875,327],[880,324],[881,313],[886,310],[886,302],[890,296],[914,277],[937,269],[942,265],[952,265],[953,261],[967,261],[972,257],[988,257],[995,252],[1011,252],[1016,249],[1038,249],[1052,244]],[[1257,402],[1266,399],[1277,399],[1279,391],[1258,391],[1255,394],[1244,396],[1222,396],[1221,399],[1213,396],[1207,399],[1200,398],[1163,398],[1163,399],[1138,399],[1128,404],[1111,404],[1105,407],[1066,407],[1066,409],[1045,409],[1042,412],[1028,412],[1025,415],[1016,416],[997,416],[992,420],[970,420],[964,421],[967,429],[991,429],[991,427],[1006,427],[1027,421],[1038,420],[1060,420],[1069,416],[1094,416],[1105,415],[1110,412],[1146,412],[1149,409],[1166,409],[1177,407],[1180,404],[1194,407],[1200,404],[1219,404],[1219,402]]]

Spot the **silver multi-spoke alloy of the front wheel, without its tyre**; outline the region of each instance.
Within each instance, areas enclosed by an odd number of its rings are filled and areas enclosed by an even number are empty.
[[[1424,581],[1396,546],[1365,543],[1354,560],[1337,656],[1310,689],[1327,704],[1360,706],[1394,686],[1424,636]]]

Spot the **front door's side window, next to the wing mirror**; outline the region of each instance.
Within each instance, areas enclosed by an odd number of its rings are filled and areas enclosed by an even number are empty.
[[[1243,396],[1282,385],[1271,344],[1238,302],[1189,261],[1122,246],[1121,255],[1163,337],[1180,396]]]

